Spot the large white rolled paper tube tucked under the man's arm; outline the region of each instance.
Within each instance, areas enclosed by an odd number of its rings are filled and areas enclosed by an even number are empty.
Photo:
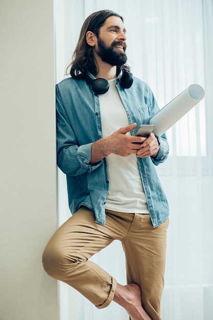
[[[191,84],[187,87],[150,119],[149,124],[155,126],[154,134],[160,136],[171,128],[185,113],[198,104],[204,96],[204,89],[199,84]]]

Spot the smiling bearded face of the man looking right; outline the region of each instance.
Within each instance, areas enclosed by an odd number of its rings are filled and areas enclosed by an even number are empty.
[[[123,65],[127,61],[126,47],[126,29],[123,21],[116,16],[107,18],[100,28],[98,43],[94,48],[97,55],[110,65]]]

